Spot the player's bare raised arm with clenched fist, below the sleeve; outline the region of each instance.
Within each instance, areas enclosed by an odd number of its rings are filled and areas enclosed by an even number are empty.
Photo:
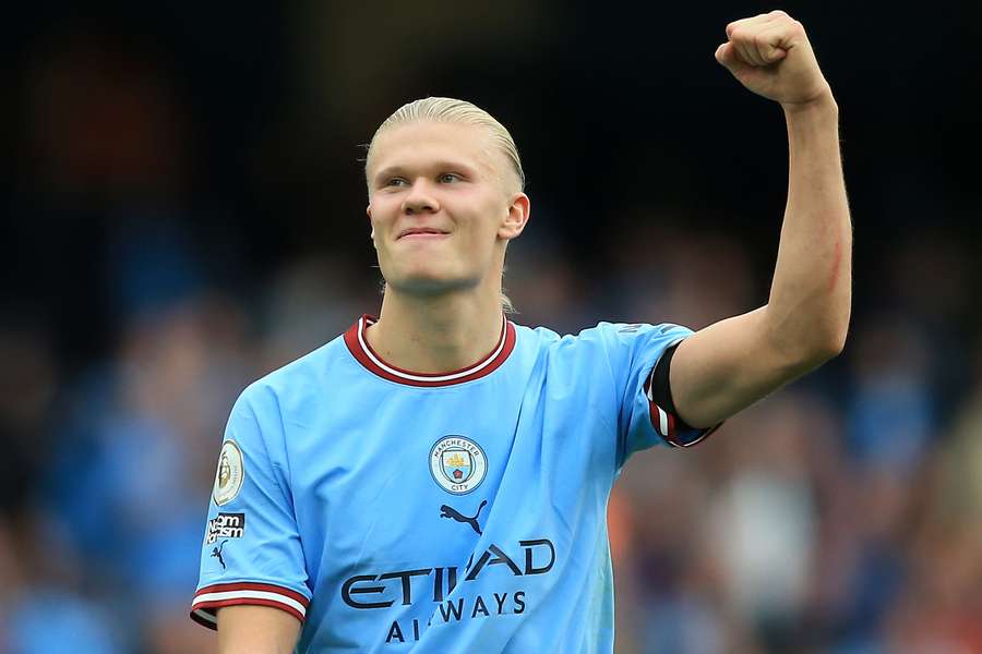
[[[788,123],[788,204],[767,304],[683,341],[670,370],[679,415],[711,426],[842,351],[852,229],[838,107],[800,23],[773,11],[727,26],[717,60],[780,102]]]

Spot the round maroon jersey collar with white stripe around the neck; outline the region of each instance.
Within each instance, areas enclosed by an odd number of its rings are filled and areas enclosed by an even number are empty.
[[[358,362],[367,367],[369,372],[407,386],[453,386],[455,384],[464,384],[472,382],[498,370],[502,363],[515,349],[515,326],[507,320],[504,315],[501,318],[501,338],[498,344],[491,350],[491,353],[465,368],[451,371],[448,373],[414,373],[400,367],[396,367],[391,363],[386,363],[379,354],[372,350],[368,339],[364,337],[364,329],[369,325],[373,325],[376,318],[370,315],[361,316],[357,323],[345,332],[345,344],[348,350],[358,360]]]

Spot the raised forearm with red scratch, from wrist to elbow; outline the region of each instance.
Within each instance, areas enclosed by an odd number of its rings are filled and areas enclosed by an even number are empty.
[[[838,107],[828,94],[785,107],[788,204],[767,304],[778,348],[819,363],[841,351],[852,294],[852,226],[839,154]]]

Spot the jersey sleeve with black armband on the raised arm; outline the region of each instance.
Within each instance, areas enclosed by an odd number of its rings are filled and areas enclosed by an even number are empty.
[[[669,323],[601,323],[598,330],[603,335],[620,398],[619,467],[632,453],[655,445],[691,447],[718,427],[694,428],[686,425],[675,413],[668,388],[668,375],[655,374],[666,353],[692,336],[692,329]],[[662,371],[667,372],[667,366]]]

